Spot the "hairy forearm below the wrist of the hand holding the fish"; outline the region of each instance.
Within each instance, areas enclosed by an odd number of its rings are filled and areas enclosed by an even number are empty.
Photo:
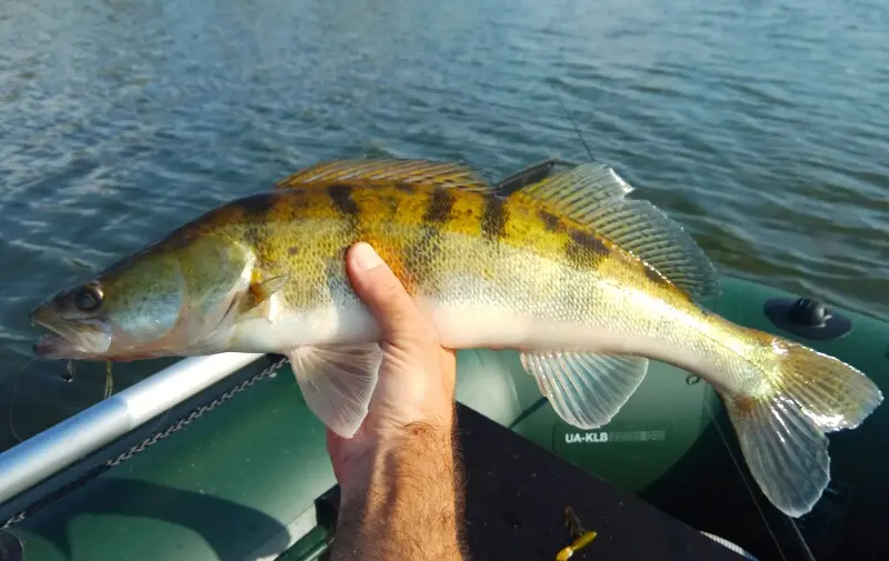
[[[341,488],[332,561],[462,555],[462,489],[452,428],[412,423],[369,452]]]

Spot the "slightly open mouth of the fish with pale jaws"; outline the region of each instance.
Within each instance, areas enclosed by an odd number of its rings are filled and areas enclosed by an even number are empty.
[[[41,359],[100,358],[111,343],[111,337],[101,323],[51,321],[38,310],[31,313],[31,323],[49,331],[33,345],[34,355]]]

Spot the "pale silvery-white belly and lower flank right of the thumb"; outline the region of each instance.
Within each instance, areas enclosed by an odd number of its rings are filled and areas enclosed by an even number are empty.
[[[439,277],[426,305],[446,347],[632,354],[685,369],[721,391],[748,392],[760,383],[745,360],[748,343],[731,337],[725,320],[596,272],[498,251],[483,276]]]

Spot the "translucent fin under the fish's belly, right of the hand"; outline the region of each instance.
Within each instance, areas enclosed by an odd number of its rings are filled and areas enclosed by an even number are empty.
[[[579,429],[608,423],[648,371],[648,359],[643,357],[522,352],[520,359],[556,413]]]

